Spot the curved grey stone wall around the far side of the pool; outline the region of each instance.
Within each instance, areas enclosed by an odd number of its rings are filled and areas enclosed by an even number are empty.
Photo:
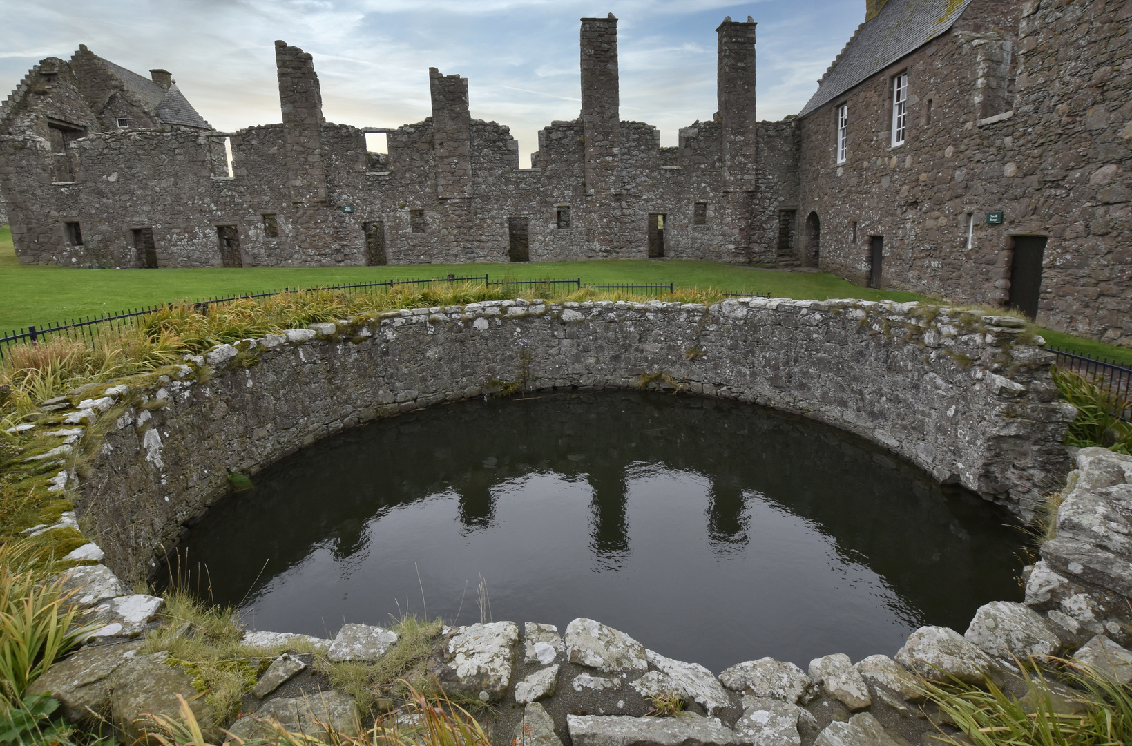
[[[379,417],[523,386],[680,388],[803,413],[1028,516],[1038,486],[1067,469],[1074,415],[1028,335],[1013,317],[915,303],[482,302],[221,345],[59,400],[37,429],[63,426],[65,455],[102,414],[72,492],[85,535],[127,578],[230,473]]]

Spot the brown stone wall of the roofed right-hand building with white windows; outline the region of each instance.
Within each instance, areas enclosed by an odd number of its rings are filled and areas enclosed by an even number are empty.
[[[1132,338],[1130,14],[1127,2],[975,0],[951,31],[805,117],[798,216],[820,220],[822,268],[865,284],[880,235],[882,286],[1004,303],[1014,237],[1048,237],[1038,320]],[[901,71],[909,135],[892,147]],[[1004,223],[988,225],[990,212]]]

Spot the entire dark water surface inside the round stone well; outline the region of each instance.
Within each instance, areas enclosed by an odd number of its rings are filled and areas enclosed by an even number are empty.
[[[662,394],[440,406],[297,453],[186,537],[249,626],[585,616],[714,671],[897,652],[1020,600],[1022,534],[808,420]],[[419,573],[419,580],[418,580]],[[423,599],[422,603],[422,589]]]

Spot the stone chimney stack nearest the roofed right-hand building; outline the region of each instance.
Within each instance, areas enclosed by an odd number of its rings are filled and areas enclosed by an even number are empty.
[[[754,191],[757,157],[755,115],[755,22],[728,16],[719,34],[717,92],[722,125],[723,179],[728,191]]]

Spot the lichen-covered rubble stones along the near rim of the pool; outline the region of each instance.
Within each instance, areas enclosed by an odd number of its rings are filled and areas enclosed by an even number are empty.
[[[834,653],[811,661],[808,672],[762,658],[717,677],[593,619],[575,619],[561,636],[552,625],[526,623],[521,632],[515,623],[497,621],[446,627],[429,672],[449,693],[495,704],[492,737],[515,746],[561,746],[567,737],[574,746],[909,746],[909,737],[934,732],[917,704],[924,700],[918,677],[1009,683],[1014,658],[1070,654],[1132,683],[1127,619],[1121,616],[1132,591],[1132,456],[1084,448],[1075,457],[1056,535],[1026,571],[1026,603],[987,603],[962,635],[921,627],[893,658],[854,663]],[[139,654],[162,599],[127,594],[102,566],[68,572],[70,586],[80,589],[84,618],[101,627],[29,693],[50,692],[61,714],[79,724],[91,724],[92,712],[109,712],[134,737],[142,732],[142,713],[175,715],[177,695],[196,694],[191,677],[166,666],[165,653]],[[379,660],[396,640],[388,629],[354,624],[333,641],[272,632],[245,636],[254,646],[303,645],[332,660],[360,661]],[[308,675],[306,668],[291,654],[276,659],[256,685],[258,704],[246,703],[250,712],[231,731],[243,738],[264,734],[266,720],[274,719],[289,729],[310,732],[329,723],[357,734],[362,713],[352,697],[295,693],[293,683]],[[676,694],[687,712],[644,717],[649,697],[659,694]],[[191,700],[201,715],[199,701]]]

